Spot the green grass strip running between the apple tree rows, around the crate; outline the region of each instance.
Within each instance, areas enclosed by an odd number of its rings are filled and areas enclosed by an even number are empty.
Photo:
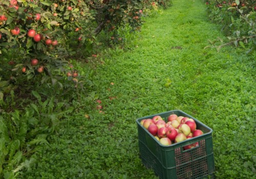
[[[139,159],[135,120],[172,109],[214,130],[217,178],[255,177],[255,56],[204,50],[223,34],[201,1],[174,0],[145,21],[132,50],[106,51],[91,79],[96,94],[74,102],[51,147],[21,178],[157,178]]]

